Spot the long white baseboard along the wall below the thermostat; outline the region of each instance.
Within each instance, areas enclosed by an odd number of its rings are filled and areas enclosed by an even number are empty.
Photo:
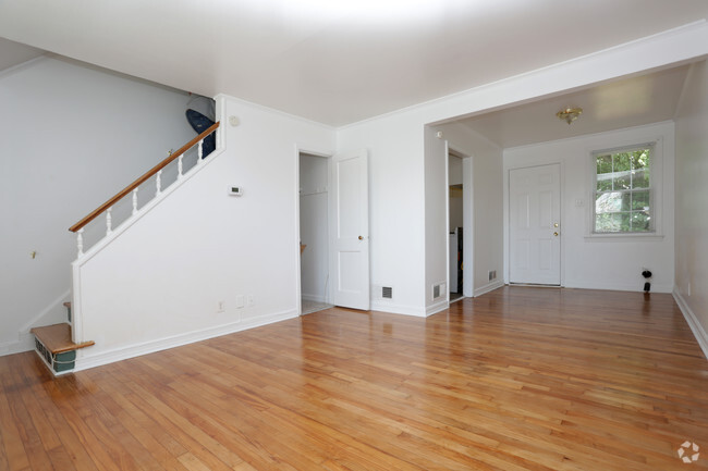
[[[82,349],[77,351],[75,363],[76,365],[74,368],[74,371],[88,370],[89,368],[101,367],[103,364],[113,363],[115,361],[127,360],[129,358],[139,357],[143,355],[152,354],[155,351],[167,350],[168,348],[181,347],[183,345],[193,344],[195,342],[233,334],[235,332],[259,327],[261,325],[272,324],[273,322],[285,321],[288,319],[297,317],[298,314],[296,310],[260,315],[258,318],[248,319],[246,321],[232,322],[216,327],[205,329],[203,331],[188,332],[186,334],[144,342],[142,344],[129,345],[126,347],[99,351],[97,354],[90,351],[90,348],[96,347],[89,347],[88,349]]]

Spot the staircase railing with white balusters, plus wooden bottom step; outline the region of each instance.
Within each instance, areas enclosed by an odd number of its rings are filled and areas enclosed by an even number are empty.
[[[211,133],[215,133],[218,127],[219,127],[219,123],[217,122],[211,127],[206,129],[204,133],[202,133],[200,135],[192,139],[190,142],[182,146],[182,148],[180,148],[176,152],[171,153],[162,162],[160,162],[159,164],[150,169],[143,176],[137,178],[135,182],[126,186],[121,191],[119,191],[113,198],[106,201],[103,204],[98,207],[96,210],[94,210],[91,213],[89,213],[87,216],[78,221],[70,228],[71,232],[76,234],[76,246],[78,252],[77,260],[76,262],[73,263],[74,301],[81,299],[77,298],[77,293],[81,292],[81,281],[80,277],[76,275],[77,262],[81,261],[82,258],[85,258],[90,255],[85,251],[85,247],[84,247],[84,238],[83,238],[84,227],[87,224],[89,224],[91,221],[94,221],[97,216],[105,214],[106,235],[101,240],[99,240],[99,243],[95,244],[94,247],[91,247],[91,249],[94,250],[100,249],[102,246],[110,244],[110,241],[115,237],[118,237],[125,228],[127,228],[132,222],[141,218],[142,213],[149,211],[149,209],[154,207],[157,203],[157,201],[159,201],[161,198],[167,196],[167,193],[163,193],[163,188],[161,184],[161,174],[164,168],[167,168],[172,162],[176,162],[178,181],[184,182],[186,178],[183,177],[186,176],[187,173],[193,173],[193,171],[202,166],[200,165],[202,159],[207,157],[207,156],[203,156],[202,147],[204,144],[204,139],[206,139]],[[194,148],[195,146],[197,150],[196,164],[194,165],[194,168],[184,171],[183,160],[182,160],[183,154],[186,151]],[[138,208],[137,206],[138,187],[152,176],[156,176],[155,197],[149,203],[147,203],[143,208]],[[173,184],[172,186],[176,187],[178,185]],[[112,208],[117,202],[119,202],[127,195],[132,195],[133,211],[131,215],[127,218],[127,220],[123,221],[123,224],[114,228],[112,214],[111,214]],[[63,305],[66,308],[68,322],[53,324],[53,325],[46,325],[41,327],[33,327],[29,331],[30,334],[35,336],[35,351],[37,351],[39,358],[41,358],[41,360],[45,362],[47,368],[49,368],[49,370],[54,376],[71,373],[74,370],[76,363],[77,350],[95,345],[95,342],[84,340],[82,338],[83,318],[82,318],[81,302],[75,302],[73,305],[74,307],[73,312],[72,312],[71,302],[64,302]]]

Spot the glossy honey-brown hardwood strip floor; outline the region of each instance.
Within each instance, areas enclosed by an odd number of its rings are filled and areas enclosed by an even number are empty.
[[[56,380],[34,352],[1,357],[0,470],[708,469],[706,389],[670,295],[506,287]]]

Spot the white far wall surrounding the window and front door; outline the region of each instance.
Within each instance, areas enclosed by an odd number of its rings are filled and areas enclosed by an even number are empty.
[[[657,237],[588,237],[593,199],[590,152],[660,139],[655,159],[661,158],[662,177],[652,175],[655,209],[661,211]],[[661,152],[661,154],[659,154]],[[659,123],[573,139],[504,150],[504,199],[509,171],[547,163],[561,164],[561,284],[566,287],[642,290],[643,268],[654,273],[651,289],[673,288],[674,128]],[[576,200],[582,206],[576,204]],[[508,213],[508,204],[504,204]],[[659,215],[655,213],[655,216]],[[508,218],[504,218],[504,252],[509,252]],[[509,260],[505,257],[505,260]],[[504,278],[508,277],[505,267]]]

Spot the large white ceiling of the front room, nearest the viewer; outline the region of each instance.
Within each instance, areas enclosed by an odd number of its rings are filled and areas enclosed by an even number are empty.
[[[343,125],[707,16],[706,0],[2,0],[0,37]]]

